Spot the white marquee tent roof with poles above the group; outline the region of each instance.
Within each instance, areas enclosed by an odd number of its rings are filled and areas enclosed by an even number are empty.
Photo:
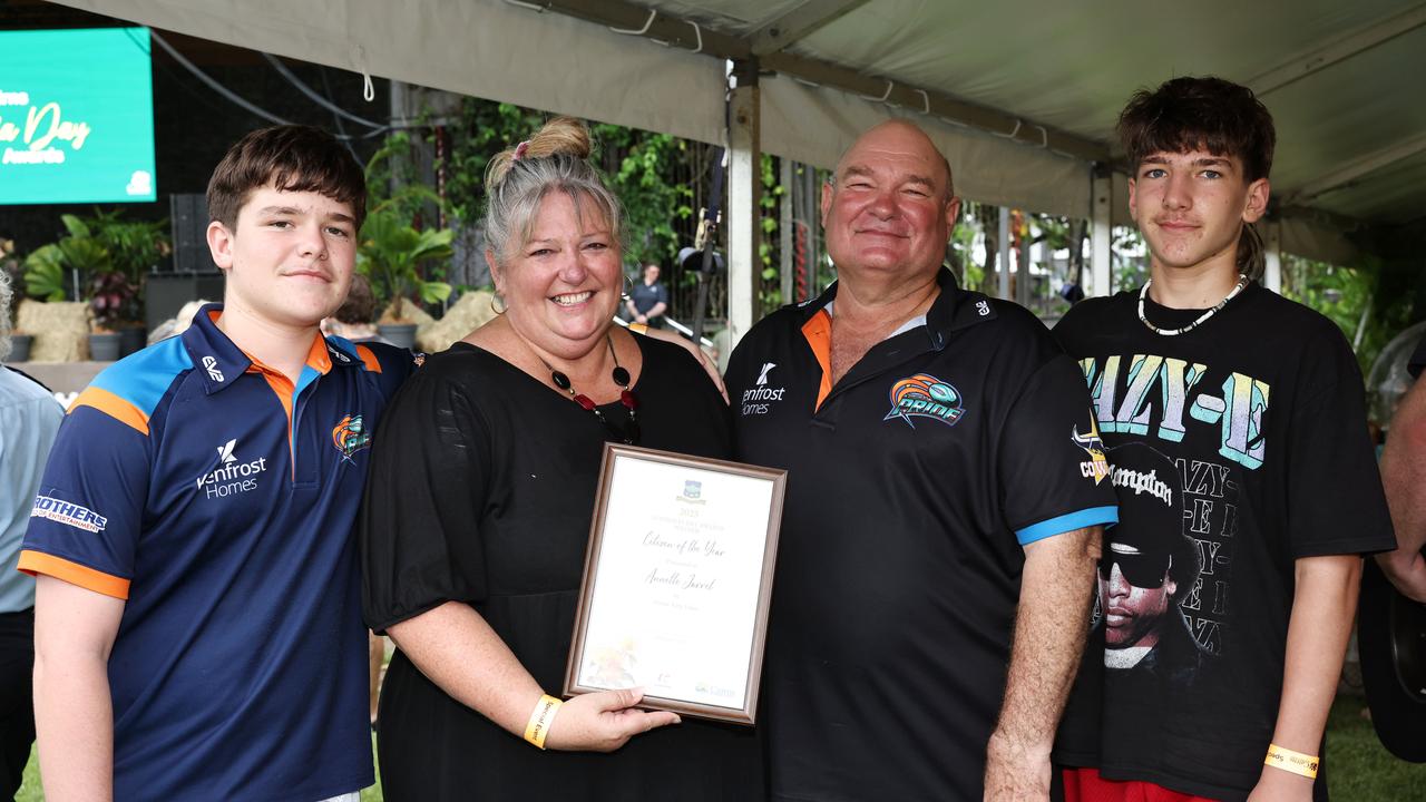
[[[1350,261],[1426,215],[1426,4],[1402,0],[63,0],[161,30],[732,146],[734,334],[752,323],[752,160],[830,166],[888,116],[957,191],[1095,223],[1108,285],[1128,96],[1179,74],[1253,87],[1278,124],[1269,248]],[[726,106],[727,60],[742,80]],[[756,86],[747,86],[754,83]],[[724,120],[732,120],[726,126]],[[1098,170],[1097,170],[1098,166]],[[1098,180],[1094,176],[1101,176]],[[1269,271],[1271,271],[1269,265]],[[1269,283],[1272,283],[1269,273]]]

